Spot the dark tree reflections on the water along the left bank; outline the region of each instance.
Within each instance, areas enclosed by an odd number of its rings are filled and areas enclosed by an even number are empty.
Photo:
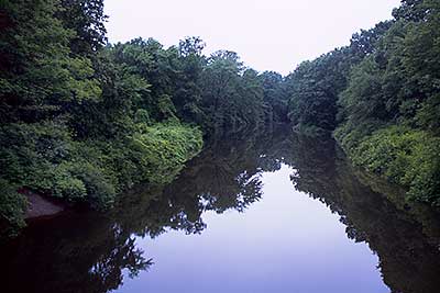
[[[235,135],[212,142],[165,188],[138,187],[106,214],[75,212],[35,223],[0,249],[6,292],[108,292],[153,264],[135,236],[167,229],[200,233],[204,211],[243,211],[261,195],[261,155],[282,135]],[[262,143],[263,142],[263,143]],[[25,282],[22,280],[25,279]]]

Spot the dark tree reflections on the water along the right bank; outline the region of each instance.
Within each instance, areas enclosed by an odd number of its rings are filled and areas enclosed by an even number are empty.
[[[435,214],[416,204],[411,204],[410,211],[400,209],[393,201],[393,193],[398,191],[389,184],[385,189],[382,182],[382,190],[387,191],[385,196],[365,185],[364,180],[360,182],[362,172],[353,172],[329,139],[293,137],[292,146],[288,160],[297,170],[292,176],[295,187],[340,214],[350,238],[370,245],[380,257],[384,282],[393,292],[437,292],[440,253],[435,227],[440,222]]]

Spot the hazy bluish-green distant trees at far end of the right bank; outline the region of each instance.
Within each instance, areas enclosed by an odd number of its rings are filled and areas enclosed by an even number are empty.
[[[350,46],[334,49],[312,61],[305,61],[286,78],[288,116],[296,128],[323,133],[337,127],[338,116],[341,116],[338,113],[338,99],[348,86],[351,68],[372,55],[375,44],[389,25],[389,22],[381,22],[369,31],[354,34]],[[375,87],[375,83],[364,81],[362,90],[366,95],[371,90],[369,87]]]

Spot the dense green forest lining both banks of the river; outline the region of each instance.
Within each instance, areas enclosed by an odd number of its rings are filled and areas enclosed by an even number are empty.
[[[204,138],[290,123],[333,134],[352,162],[440,205],[440,2],[393,20],[286,77],[199,37],[110,44],[103,0],[0,5],[0,223],[26,194],[97,210],[139,183],[170,182]]]

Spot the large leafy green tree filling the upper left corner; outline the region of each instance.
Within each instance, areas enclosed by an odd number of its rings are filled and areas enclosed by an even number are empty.
[[[55,18],[58,1],[6,1],[0,35],[2,123],[37,122],[100,94],[91,63],[72,57],[75,35]]]

